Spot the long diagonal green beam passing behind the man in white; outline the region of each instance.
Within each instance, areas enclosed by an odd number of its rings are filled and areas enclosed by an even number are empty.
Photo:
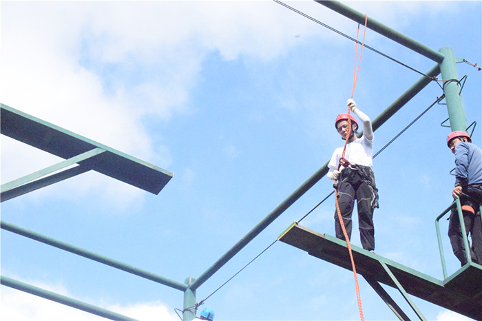
[[[434,65],[427,75],[437,76],[440,73],[439,65]],[[426,85],[430,83],[430,79],[426,76],[422,76],[419,81],[412,85],[404,94],[392,103],[389,107],[381,112],[377,118],[373,121],[373,130],[377,130],[388,119],[393,116],[401,107],[403,107],[410,99],[423,90]],[[271,213],[266,216],[261,222],[258,223],[251,231],[249,231],[243,238],[241,238],[231,249],[229,249],[223,256],[221,256],[209,269],[202,273],[199,278],[191,285],[192,289],[198,289],[202,283],[209,279],[216,271],[218,271],[223,265],[225,265],[236,253],[246,246],[253,238],[258,236],[268,225],[271,224],[276,218],[278,218],[286,209],[288,209],[296,200],[303,196],[308,189],[313,187],[323,176],[328,173],[328,162],[326,162],[321,168],[315,172],[308,180],[306,180],[300,187],[298,187],[288,198],[286,198],[280,205],[278,205]]]

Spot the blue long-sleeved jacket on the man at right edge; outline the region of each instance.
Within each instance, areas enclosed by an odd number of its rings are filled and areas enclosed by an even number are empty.
[[[455,146],[455,186],[482,183],[482,150],[472,143]]]

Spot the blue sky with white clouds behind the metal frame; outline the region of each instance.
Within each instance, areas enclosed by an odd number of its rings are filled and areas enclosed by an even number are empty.
[[[355,38],[357,23],[286,1]],[[481,1],[351,1],[368,17],[482,64]],[[363,31],[361,26],[360,32]],[[361,35],[360,35],[361,37]],[[435,64],[366,30],[370,47]],[[357,49],[359,53],[359,47]],[[1,219],[165,278],[197,278],[331,158],[353,87],[355,43],[274,1],[2,1],[0,102],[174,172],[158,195],[87,172],[1,203]],[[463,102],[481,146],[482,72]],[[421,74],[364,49],[353,99],[374,119]],[[375,151],[443,94],[432,82],[375,132]],[[434,105],[373,161],[375,251],[443,279],[434,220],[452,202],[446,105]],[[59,163],[1,136],[1,181]],[[326,177],[198,289],[207,298],[333,190]],[[301,225],[334,235],[328,198]],[[354,227],[357,226],[354,215]],[[447,221],[441,222],[449,273]],[[352,242],[359,246],[356,228]],[[183,293],[1,230],[1,275],[138,320],[180,320]],[[395,314],[359,278],[364,318]],[[8,287],[2,320],[105,320]],[[395,289],[386,287],[416,318]],[[428,320],[467,320],[413,298]],[[215,320],[359,320],[353,273],[275,242],[200,309]],[[198,315],[199,315],[198,311]]]

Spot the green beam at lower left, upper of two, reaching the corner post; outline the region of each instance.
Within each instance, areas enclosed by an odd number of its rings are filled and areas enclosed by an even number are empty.
[[[4,220],[0,222],[0,227],[1,229],[5,229],[6,231],[11,231],[12,233],[19,234],[27,238],[31,238],[32,240],[36,240],[44,244],[51,245],[52,247],[56,247],[58,249],[63,249],[64,251],[74,253],[78,256],[83,256],[84,258],[89,258],[90,260],[94,260],[96,262],[109,265],[110,267],[115,267],[116,269],[120,269],[128,273],[132,273],[136,276],[140,276],[141,278],[146,278],[147,280],[151,280],[160,284],[167,285],[168,287],[172,287],[180,291],[185,291],[187,289],[186,284],[182,284],[180,282],[176,282],[174,280],[164,278],[163,276],[158,276],[149,271],[139,269],[138,267],[133,267],[132,265],[127,265],[118,260],[107,258],[106,256],[102,256],[98,253],[81,249],[81,247],[76,247],[75,245],[70,245],[66,242],[62,242],[61,240],[50,238],[49,236],[45,236],[35,231],[31,231],[30,229],[24,229],[23,227],[19,227],[12,223],[5,222]]]

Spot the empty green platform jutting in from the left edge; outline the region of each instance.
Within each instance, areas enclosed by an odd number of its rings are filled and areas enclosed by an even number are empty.
[[[1,104],[0,118],[1,134],[72,160],[82,168],[74,174],[92,169],[153,194],[158,194],[174,175],[7,105]],[[2,191],[2,200],[4,196]]]

